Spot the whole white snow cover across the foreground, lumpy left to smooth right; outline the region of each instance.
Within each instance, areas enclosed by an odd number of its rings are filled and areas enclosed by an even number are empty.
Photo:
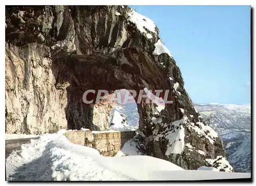
[[[151,156],[104,157],[71,144],[65,130],[40,135],[6,159],[7,180],[202,180],[250,178],[250,173],[184,170]]]

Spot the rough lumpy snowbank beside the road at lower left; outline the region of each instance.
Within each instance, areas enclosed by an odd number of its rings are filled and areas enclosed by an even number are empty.
[[[71,144],[63,135],[47,135],[6,160],[7,180],[129,180],[100,165],[96,149]]]

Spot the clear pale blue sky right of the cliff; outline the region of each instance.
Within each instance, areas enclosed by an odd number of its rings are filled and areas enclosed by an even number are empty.
[[[151,18],[194,103],[250,103],[250,6],[130,6]]]

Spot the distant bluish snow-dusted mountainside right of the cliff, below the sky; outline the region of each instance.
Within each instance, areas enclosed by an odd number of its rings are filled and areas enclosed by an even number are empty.
[[[221,136],[236,172],[251,171],[251,109],[248,105],[195,104],[202,117]]]

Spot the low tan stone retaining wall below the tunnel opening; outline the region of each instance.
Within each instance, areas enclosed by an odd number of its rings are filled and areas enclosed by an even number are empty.
[[[73,130],[67,131],[64,135],[73,144],[92,147],[104,156],[114,156],[127,141],[136,135],[136,132]]]

